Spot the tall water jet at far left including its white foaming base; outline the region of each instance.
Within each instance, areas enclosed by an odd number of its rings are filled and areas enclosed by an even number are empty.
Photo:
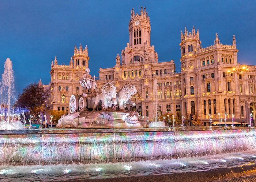
[[[9,58],[6,59],[4,63],[4,73],[2,74],[2,79],[0,82],[0,104],[2,106],[7,106],[7,113],[4,114],[4,120],[6,122],[0,123],[1,130],[15,130],[23,129],[22,123],[20,121],[10,123],[11,117],[11,101],[14,99],[14,75],[12,70],[12,62]],[[1,113],[3,115],[3,113]]]

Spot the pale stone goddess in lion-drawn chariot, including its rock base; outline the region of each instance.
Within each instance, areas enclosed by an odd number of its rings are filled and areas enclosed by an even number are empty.
[[[83,78],[79,80],[83,94],[71,95],[69,101],[70,114],[63,115],[59,120],[59,128],[144,128],[148,127],[144,120],[139,119],[136,111],[124,110],[126,104],[135,104],[130,98],[137,90],[131,83],[126,83],[119,91],[112,82],[103,83],[101,91],[85,69]],[[101,108],[101,110],[99,110]],[[91,110],[92,111],[89,111]],[[96,111],[96,109],[98,111]]]

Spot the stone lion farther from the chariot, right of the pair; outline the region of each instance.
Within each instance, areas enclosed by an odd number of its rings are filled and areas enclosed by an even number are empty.
[[[135,86],[131,83],[126,83],[116,94],[116,100],[119,105],[119,110],[124,110],[124,104],[128,103],[132,95],[137,92]]]

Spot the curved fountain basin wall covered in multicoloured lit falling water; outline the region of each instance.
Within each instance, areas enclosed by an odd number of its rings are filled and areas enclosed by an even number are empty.
[[[182,128],[1,131],[0,164],[131,162],[229,153],[256,146],[255,128],[190,128],[194,131]]]

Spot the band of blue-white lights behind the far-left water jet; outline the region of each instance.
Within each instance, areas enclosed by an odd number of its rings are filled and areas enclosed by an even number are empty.
[[[8,108],[5,106],[0,106],[0,117],[1,121],[8,121],[8,118],[11,117],[11,121],[14,122],[16,119],[20,119],[19,116],[29,114],[29,110],[25,107],[12,107],[10,108],[10,115],[8,115]]]

